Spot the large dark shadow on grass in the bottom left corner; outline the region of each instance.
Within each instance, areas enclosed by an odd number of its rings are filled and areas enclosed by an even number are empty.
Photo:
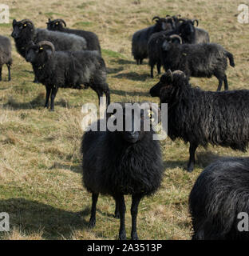
[[[10,214],[10,229],[16,226],[25,234],[40,233],[45,239],[71,238],[73,230],[88,229],[84,217],[89,209],[80,212],[61,210],[41,202],[25,198],[10,198],[0,201],[0,209]]]

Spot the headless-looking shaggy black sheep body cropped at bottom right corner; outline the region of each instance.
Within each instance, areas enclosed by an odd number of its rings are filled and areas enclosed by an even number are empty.
[[[189,211],[192,240],[249,240],[248,223],[239,224],[246,221],[240,213],[249,213],[249,158],[207,166],[192,188]]]

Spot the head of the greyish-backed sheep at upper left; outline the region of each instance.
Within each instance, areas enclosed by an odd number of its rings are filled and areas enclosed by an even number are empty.
[[[34,26],[30,22],[17,22],[13,20],[13,32],[11,34],[12,38],[30,38],[34,32]]]

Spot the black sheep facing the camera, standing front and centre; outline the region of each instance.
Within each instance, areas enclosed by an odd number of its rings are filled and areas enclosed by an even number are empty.
[[[145,102],[144,102],[145,103]],[[152,120],[151,113],[156,116],[156,107],[146,103],[112,103],[107,110],[108,122],[112,114],[121,120],[121,131],[110,130],[85,132],[81,153],[83,154],[83,184],[92,193],[92,210],[89,227],[96,223],[96,205],[99,194],[111,195],[116,201],[115,217],[120,218],[119,238],[126,239],[124,226],[125,203],[124,194],[132,195],[132,232],[133,240],[138,239],[136,233],[136,216],[141,198],[158,190],[163,178],[163,164],[160,144],[153,140],[153,124],[144,130],[144,120]],[[118,105],[118,107],[116,106]],[[134,114],[127,114],[129,106],[135,106]],[[117,110],[121,108],[121,112]],[[150,111],[152,109],[152,112]],[[117,111],[117,112],[116,112]],[[148,118],[148,116],[150,118]],[[117,122],[116,120],[116,122]],[[136,122],[137,120],[137,122]],[[98,121],[98,125],[100,120]],[[136,123],[141,129],[136,129]],[[126,131],[125,125],[131,129]],[[96,146],[97,145],[97,146]]]

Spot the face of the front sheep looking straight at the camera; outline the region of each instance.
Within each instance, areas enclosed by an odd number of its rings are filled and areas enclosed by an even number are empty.
[[[110,118],[114,118],[113,115],[115,115],[114,126],[117,126],[117,122],[120,122],[121,130],[119,129],[115,132],[123,141],[136,143],[150,133],[157,111],[153,107],[150,110],[148,104],[148,102],[141,104],[128,103],[127,106],[124,106],[124,103],[122,103],[122,111],[113,110],[112,113],[109,113]],[[144,122],[146,122],[145,125]],[[144,127],[147,128],[144,129]]]

